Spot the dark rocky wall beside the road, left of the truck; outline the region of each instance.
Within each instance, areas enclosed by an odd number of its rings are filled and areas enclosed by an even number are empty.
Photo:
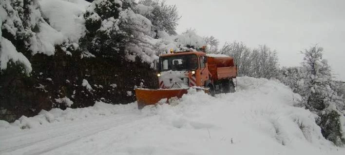
[[[57,49],[54,56],[36,54],[30,58],[30,77],[21,73],[19,65],[9,62],[0,76],[0,120],[12,122],[21,115],[36,115],[41,109],[88,107],[95,101],[127,104],[135,101],[134,87],[158,85],[150,64],[139,58],[136,62],[111,57],[80,59],[77,54],[70,56]]]

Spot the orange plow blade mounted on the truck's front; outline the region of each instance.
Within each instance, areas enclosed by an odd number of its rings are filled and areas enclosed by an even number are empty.
[[[163,98],[178,97],[187,93],[188,89],[135,89],[136,101],[138,109],[142,109],[147,105],[155,105]]]

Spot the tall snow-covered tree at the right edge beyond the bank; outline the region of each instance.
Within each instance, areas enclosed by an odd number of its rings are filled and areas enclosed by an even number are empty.
[[[323,59],[322,52],[323,48],[318,46],[302,51],[305,57],[297,92],[301,94],[305,107],[320,116],[317,123],[324,137],[336,145],[344,145],[343,124],[340,119],[344,116],[339,111],[343,108],[339,107],[343,101],[331,88],[334,85],[331,68]]]

